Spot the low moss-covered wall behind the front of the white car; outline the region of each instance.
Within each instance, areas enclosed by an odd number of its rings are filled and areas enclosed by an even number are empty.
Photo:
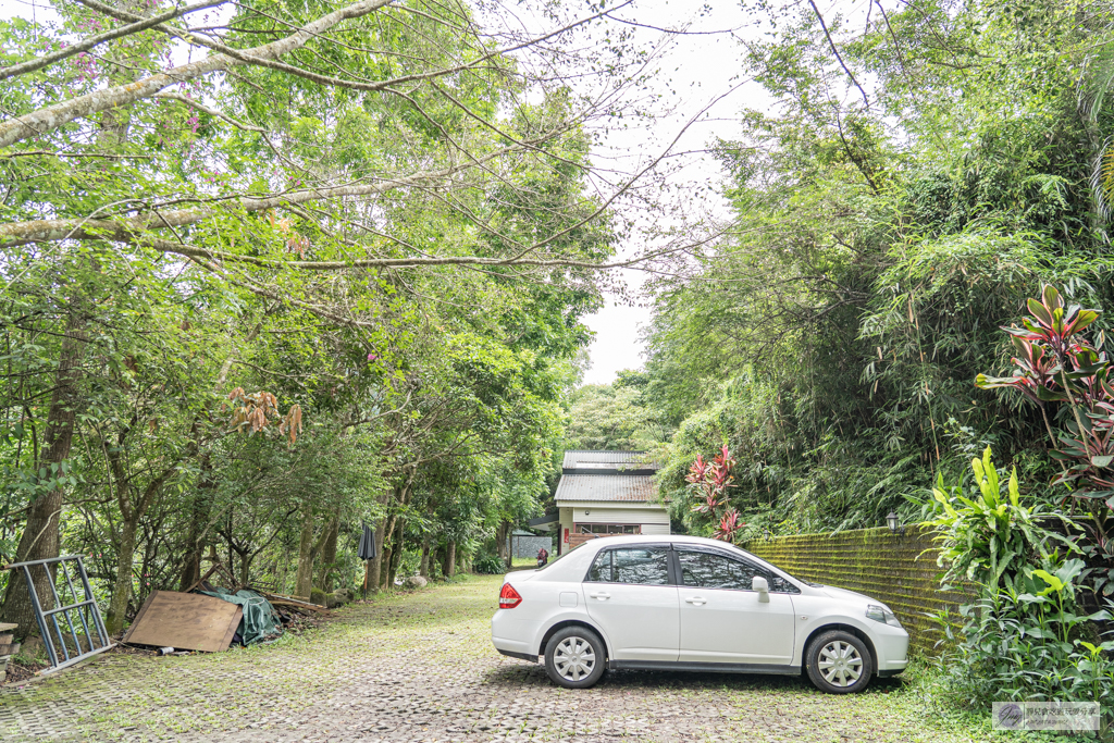
[[[903,536],[886,527],[799,534],[759,539],[744,549],[797,578],[882,600],[909,632],[912,647],[935,654],[942,632],[927,615],[945,609],[955,613],[967,597],[939,589],[939,549],[932,535],[930,526],[915,524],[906,528]]]

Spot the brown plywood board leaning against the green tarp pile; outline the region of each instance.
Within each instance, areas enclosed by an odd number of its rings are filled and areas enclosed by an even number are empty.
[[[216,653],[228,649],[243,616],[243,608],[213,596],[156,590],[139,609],[124,642]]]

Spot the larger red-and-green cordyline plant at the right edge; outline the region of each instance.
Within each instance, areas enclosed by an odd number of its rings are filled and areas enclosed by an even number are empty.
[[[1013,377],[979,374],[975,384],[984,390],[1010,388],[1040,409],[1045,428],[1057,447],[1052,457],[1064,471],[1054,485],[1067,485],[1079,500],[1103,499],[1114,508],[1114,385],[1111,362],[1096,342],[1081,332],[1098,319],[1098,310],[1064,306],[1064,299],[1045,286],[1039,300],[1029,300],[1032,316],[1022,327],[1003,327],[1013,336],[1017,355]],[[1048,422],[1047,404],[1067,403],[1072,418],[1067,432],[1055,434]],[[1092,510],[1089,507],[1087,510]]]

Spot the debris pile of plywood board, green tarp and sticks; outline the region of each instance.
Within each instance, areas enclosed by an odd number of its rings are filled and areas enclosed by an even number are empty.
[[[209,583],[221,574],[232,587]],[[254,645],[276,639],[285,628],[304,624],[306,615],[329,610],[306,600],[238,585],[221,563],[185,593],[153,592],[121,642],[149,645],[163,654],[183,651],[215,653],[233,643]]]

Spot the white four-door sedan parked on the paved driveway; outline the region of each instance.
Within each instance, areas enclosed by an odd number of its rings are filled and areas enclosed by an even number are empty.
[[[901,673],[909,634],[882,603],[798,580],[700,537],[606,537],[507,575],[491,641],[560,686],[605,668],[800,675],[860,692]]]

